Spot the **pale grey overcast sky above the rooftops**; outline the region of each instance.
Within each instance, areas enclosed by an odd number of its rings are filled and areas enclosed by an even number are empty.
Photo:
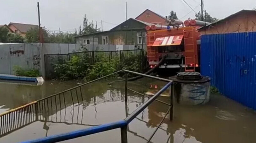
[[[171,10],[181,20],[195,17],[184,1],[200,11],[200,0],[0,0],[0,25],[9,22],[38,24],[37,2],[40,3],[41,25],[52,31],[74,32],[83,23],[84,14],[103,30],[109,30],[127,18],[135,18],[146,9],[162,16]],[[205,10],[212,17],[222,19],[242,9],[256,7],[256,0],[204,0]],[[190,13],[189,13],[190,12]],[[189,13],[189,14],[188,14]]]

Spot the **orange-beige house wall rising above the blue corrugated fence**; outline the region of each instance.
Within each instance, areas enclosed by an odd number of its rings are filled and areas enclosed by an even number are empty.
[[[200,33],[204,35],[256,32],[254,27],[256,27],[256,12],[244,11],[213,24],[206,30],[201,30]]]

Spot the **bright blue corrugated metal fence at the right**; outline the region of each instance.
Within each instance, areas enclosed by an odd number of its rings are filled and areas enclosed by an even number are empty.
[[[202,35],[201,73],[225,96],[256,110],[256,32]]]

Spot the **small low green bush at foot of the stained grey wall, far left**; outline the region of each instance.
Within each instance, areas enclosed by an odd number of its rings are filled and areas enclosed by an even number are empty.
[[[17,65],[14,66],[13,69],[14,69],[15,75],[17,75],[17,76],[26,76],[26,77],[39,77],[40,76],[39,70],[37,70],[37,69],[25,70]]]

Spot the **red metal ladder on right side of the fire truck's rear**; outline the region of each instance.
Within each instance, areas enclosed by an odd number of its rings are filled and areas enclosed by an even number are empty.
[[[195,46],[195,31],[183,30],[184,35],[184,55],[185,55],[185,72],[195,72],[196,66],[196,46]],[[190,68],[189,68],[190,67]]]

